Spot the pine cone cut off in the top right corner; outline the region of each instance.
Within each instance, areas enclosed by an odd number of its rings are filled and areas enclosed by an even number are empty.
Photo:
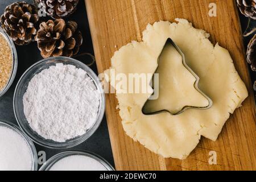
[[[243,15],[256,19],[256,0],[237,0],[237,4]]]

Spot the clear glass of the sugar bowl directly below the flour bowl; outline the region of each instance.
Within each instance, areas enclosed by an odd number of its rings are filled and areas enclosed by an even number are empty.
[[[82,155],[82,156],[95,159],[97,160],[97,162],[100,162],[107,169],[107,171],[114,171],[114,168],[105,159],[101,158],[101,156],[98,156],[88,151],[86,152],[67,151],[67,152],[62,152],[60,154],[57,154],[52,158],[50,158],[49,160],[47,160],[47,162],[43,164],[43,166],[39,169],[39,171],[49,171],[55,163],[59,162],[61,159],[67,158],[68,156],[72,156],[72,155]]]

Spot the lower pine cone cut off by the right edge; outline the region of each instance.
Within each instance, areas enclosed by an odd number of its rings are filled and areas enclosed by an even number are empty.
[[[251,39],[247,48],[247,62],[251,64],[251,69],[256,71],[256,35]]]

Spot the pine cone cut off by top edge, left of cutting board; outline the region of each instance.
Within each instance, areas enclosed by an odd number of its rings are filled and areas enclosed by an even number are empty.
[[[38,0],[44,12],[52,18],[64,18],[76,11],[79,0]]]

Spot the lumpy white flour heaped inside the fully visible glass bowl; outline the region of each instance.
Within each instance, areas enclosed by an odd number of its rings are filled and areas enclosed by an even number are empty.
[[[84,70],[56,64],[31,79],[23,105],[36,133],[65,142],[84,135],[96,122],[100,92]]]

